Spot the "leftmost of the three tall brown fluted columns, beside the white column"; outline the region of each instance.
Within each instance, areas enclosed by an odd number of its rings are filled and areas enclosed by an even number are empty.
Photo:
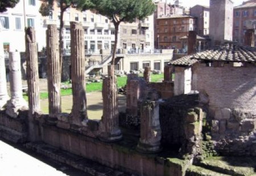
[[[39,101],[39,76],[38,76],[38,50],[36,46],[35,29],[26,29],[26,54],[27,54],[27,85],[28,107],[31,114],[40,110]]]

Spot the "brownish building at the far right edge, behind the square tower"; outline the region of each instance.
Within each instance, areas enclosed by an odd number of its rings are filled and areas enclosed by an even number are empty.
[[[243,2],[242,5],[234,7],[233,18],[233,40],[243,43],[247,23],[250,20],[256,21],[256,0]]]

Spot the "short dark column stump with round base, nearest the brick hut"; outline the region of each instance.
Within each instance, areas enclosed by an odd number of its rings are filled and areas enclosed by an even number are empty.
[[[160,140],[159,102],[144,101],[141,106],[141,138],[137,149],[142,153],[159,152]]]

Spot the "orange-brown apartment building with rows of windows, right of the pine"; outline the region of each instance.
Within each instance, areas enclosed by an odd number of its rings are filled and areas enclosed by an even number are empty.
[[[162,49],[184,49],[181,37],[196,28],[196,18],[191,15],[170,15],[156,19],[157,45]]]

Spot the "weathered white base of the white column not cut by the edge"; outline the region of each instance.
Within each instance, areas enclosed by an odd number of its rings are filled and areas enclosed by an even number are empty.
[[[6,114],[10,117],[17,118],[19,115],[19,110],[28,110],[28,105],[26,100],[23,98],[17,98],[7,101],[6,104]]]

